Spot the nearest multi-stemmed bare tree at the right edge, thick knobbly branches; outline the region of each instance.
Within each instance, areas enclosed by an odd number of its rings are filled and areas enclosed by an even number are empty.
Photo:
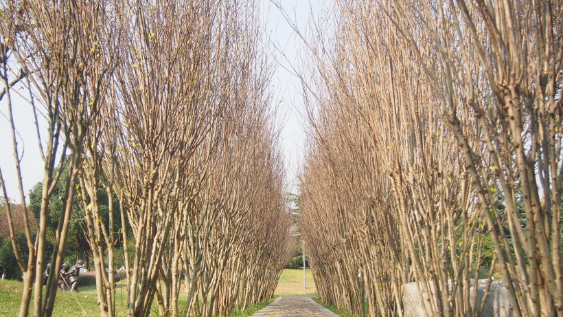
[[[416,19],[396,14],[413,8]],[[461,145],[517,316],[563,314],[562,8],[557,1],[417,1],[389,10]],[[411,30],[427,30],[431,46]],[[490,211],[497,197],[504,215]]]

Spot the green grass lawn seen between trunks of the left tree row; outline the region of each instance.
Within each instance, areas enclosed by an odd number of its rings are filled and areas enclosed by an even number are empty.
[[[0,317],[17,316],[21,300],[22,283],[19,281],[0,280]],[[115,295],[115,316],[126,316],[126,284],[121,281],[117,284]],[[95,286],[79,287],[80,292],[60,292],[57,294],[53,316],[100,316],[100,309],[97,306]],[[185,294],[179,298],[180,307],[185,305]],[[266,300],[258,305],[248,307],[244,311],[233,311],[233,317],[246,317],[262,309],[272,300]],[[30,311],[31,315],[31,311]],[[159,316],[157,303],[152,305],[151,316]]]

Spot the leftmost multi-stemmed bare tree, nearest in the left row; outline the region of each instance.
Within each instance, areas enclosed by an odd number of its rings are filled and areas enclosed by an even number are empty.
[[[72,13],[72,14],[70,14]],[[58,3],[41,1],[8,3],[3,7],[2,38],[4,47],[5,94],[8,98],[16,170],[19,175],[20,198],[25,204],[25,194],[19,166],[19,147],[16,142],[12,118],[12,100],[8,82],[8,50],[13,61],[27,74],[30,102],[34,109],[38,144],[45,162],[41,212],[36,238],[32,240],[29,220],[26,219],[26,239],[30,250],[27,263],[19,265],[23,272],[24,287],[20,316],[27,316],[34,287],[34,316],[50,316],[56,296],[56,274],[62,264],[71,217],[72,202],[76,193],[76,179],[82,166],[84,135],[93,118],[99,113],[100,94],[103,93],[111,65],[100,58],[97,36],[104,32],[104,3]],[[38,123],[38,113],[47,120],[47,135]],[[46,144],[43,140],[47,140]],[[69,154],[69,174],[65,182],[65,197],[61,197],[63,210],[56,230],[56,243],[52,254],[51,271],[45,297],[41,276],[45,264],[46,226],[49,219],[49,197],[60,180],[62,164]],[[58,168],[55,165],[58,164]],[[3,183],[3,181],[2,181]],[[3,186],[4,188],[5,186]],[[4,196],[6,194],[4,193]],[[8,197],[5,197],[8,199]],[[26,208],[27,209],[27,208]],[[10,210],[8,209],[8,214]]]

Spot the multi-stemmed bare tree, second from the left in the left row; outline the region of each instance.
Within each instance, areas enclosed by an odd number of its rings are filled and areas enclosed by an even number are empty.
[[[215,91],[228,90],[207,81],[219,67],[211,63],[209,42],[216,8],[185,5],[123,3],[120,11],[124,62],[116,70],[115,114],[106,142],[117,150],[108,157],[116,161],[114,190],[124,197],[135,238],[133,265],[126,263],[130,316],[150,313],[181,203],[176,197],[183,195],[183,170],[220,109],[211,101]]]

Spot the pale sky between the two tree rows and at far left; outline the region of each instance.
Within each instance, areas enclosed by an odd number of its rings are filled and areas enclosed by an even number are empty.
[[[321,12],[323,6],[328,6],[330,0],[279,0],[289,19],[298,28],[306,28],[310,21],[310,12]],[[320,3],[320,4],[319,4]],[[292,69],[299,64],[299,54],[303,54],[303,43],[299,36],[293,32],[290,24],[282,16],[279,9],[270,0],[262,0],[262,27],[270,39],[270,50],[284,52],[285,57],[276,53],[279,65],[272,78],[271,85],[275,91],[274,103],[280,106],[276,118],[277,125],[281,125],[281,144],[287,166],[288,191],[295,193],[297,188],[297,173],[303,156],[303,143],[306,138],[303,131],[305,122],[301,118],[304,112],[301,100],[301,84],[299,79],[287,69]],[[312,9],[311,9],[312,8]],[[316,17],[316,18],[317,18]],[[43,179],[43,162],[39,153],[32,109],[27,98],[26,89],[17,89],[23,96],[12,93],[14,105],[14,120],[18,129],[17,136],[21,156],[21,170],[25,195],[29,190]],[[23,97],[23,98],[22,98]],[[12,155],[12,137],[8,122],[7,98],[0,101],[0,167],[8,189],[8,196],[14,201],[20,201],[17,190],[14,157]],[[41,118],[40,118],[41,122]],[[45,121],[40,124],[45,127]]]

